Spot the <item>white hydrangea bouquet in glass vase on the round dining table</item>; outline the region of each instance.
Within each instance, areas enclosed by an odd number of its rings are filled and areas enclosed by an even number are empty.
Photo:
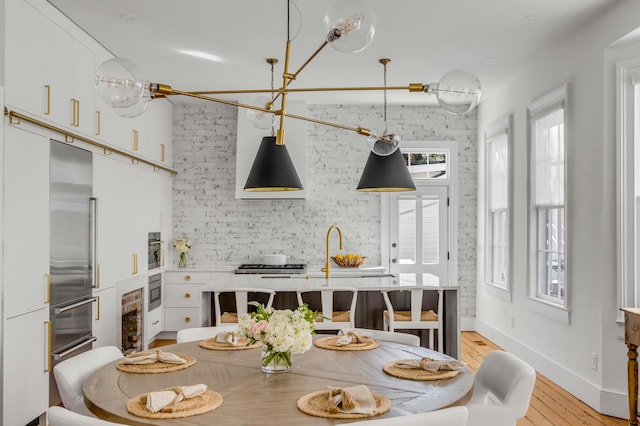
[[[249,344],[261,342],[262,370],[265,372],[288,371],[291,368],[291,355],[302,354],[311,349],[311,335],[315,333],[314,324],[318,314],[307,305],[291,309],[266,309],[257,302],[249,302],[257,311],[240,315],[238,335],[246,336]]]

